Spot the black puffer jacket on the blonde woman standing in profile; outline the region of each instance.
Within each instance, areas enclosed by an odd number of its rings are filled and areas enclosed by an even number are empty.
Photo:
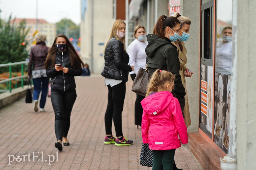
[[[111,38],[105,48],[105,66],[101,73],[106,78],[128,81],[128,72],[132,71],[129,55],[124,50],[122,41]]]

